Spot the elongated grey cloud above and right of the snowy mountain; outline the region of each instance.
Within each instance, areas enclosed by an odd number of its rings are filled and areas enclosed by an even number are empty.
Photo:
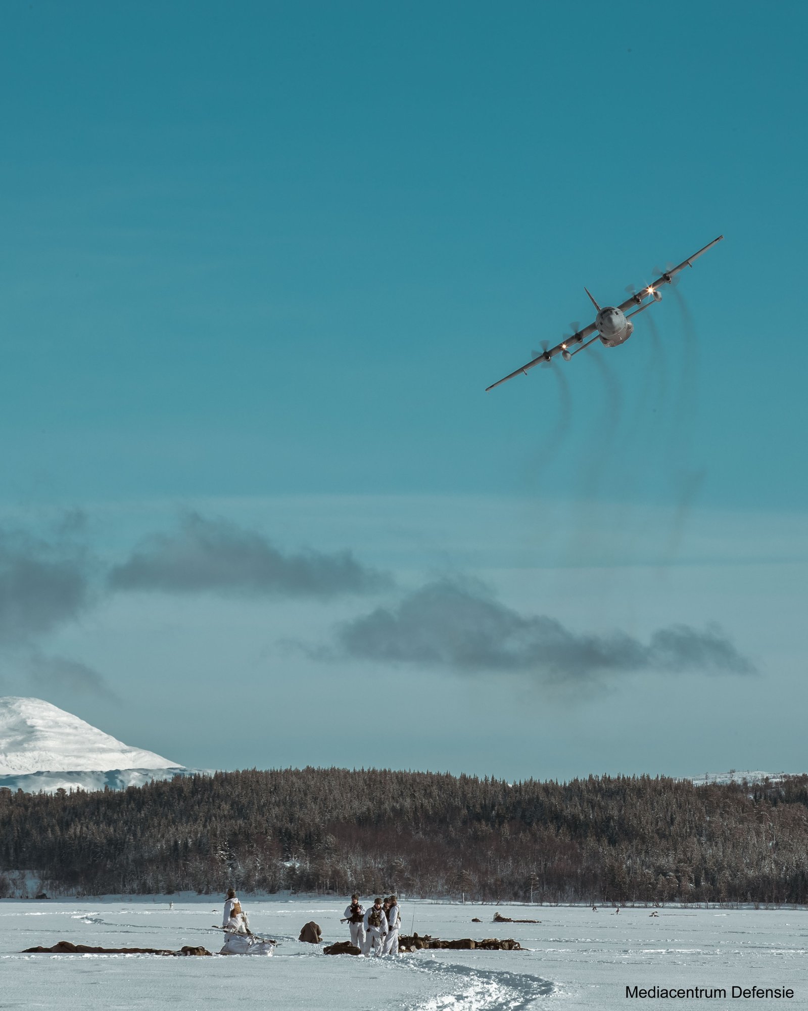
[[[256,531],[189,513],[170,534],[154,534],[109,573],[118,590],[335,596],[385,588],[392,578],[349,551],[285,554]]]

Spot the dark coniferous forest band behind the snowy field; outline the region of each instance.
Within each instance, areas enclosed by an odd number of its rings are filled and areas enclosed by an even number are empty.
[[[398,892],[535,902],[808,903],[808,775],[695,787],[305,768],[120,792],[0,790],[0,897]]]

